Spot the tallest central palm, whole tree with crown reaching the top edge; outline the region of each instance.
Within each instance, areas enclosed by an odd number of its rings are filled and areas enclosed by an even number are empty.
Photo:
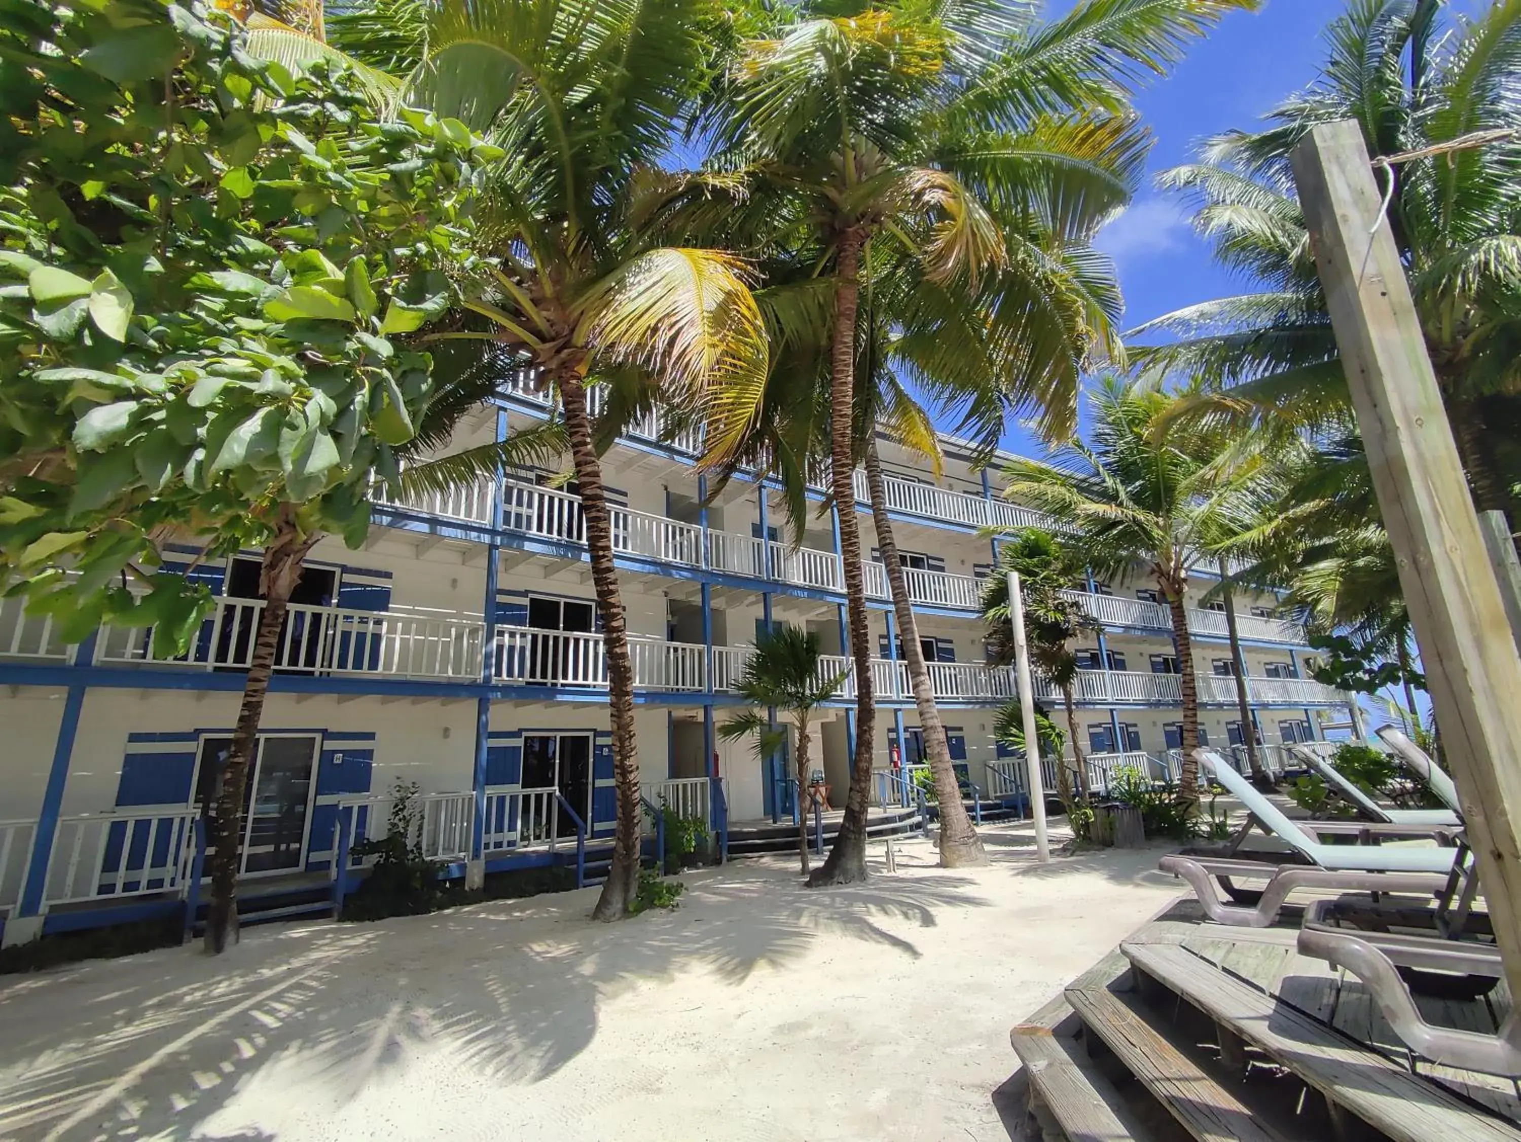
[[[840,506],[858,734],[838,839],[812,883],[865,876],[865,817],[875,745],[870,633],[852,471],[855,374],[862,289],[876,259],[913,266],[922,310],[970,318],[972,341],[954,345],[940,322],[941,359],[986,348],[996,360],[1066,354],[1106,325],[1118,295],[1106,265],[1080,240],[1040,245],[1043,234],[1083,237],[1095,199],[1118,207],[1129,189],[1097,163],[1060,157],[1084,132],[1130,131],[1127,88],[1165,70],[1183,43],[1234,8],[1256,0],[1086,0],[1051,24],[1030,9],[986,0],[922,5],[818,0],[779,6],[773,29],[744,46],[712,122],[726,144],[716,169],[741,204],[736,234],[771,224],[762,245],[788,245],[832,280],[829,321],[829,456]],[[1051,140],[1063,135],[1063,146]],[[1092,144],[1091,144],[1092,146]],[[1056,151],[1056,155],[1053,155]],[[701,192],[713,193],[707,181]],[[742,239],[732,248],[747,249]],[[1098,272],[1095,272],[1098,271]],[[1039,286],[1039,287],[1033,287]],[[937,298],[935,287],[949,301]],[[958,304],[973,298],[976,304]],[[992,333],[987,318],[998,315]],[[1072,336],[1072,330],[1080,336]],[[920,327],[920,331],[926,331]],[[1059,342],[1057,353],[1049,353]],[[1080,370],[1008,368],[1013,385],[984,398],[1036,406],[1060,435],[1075,421]]]

